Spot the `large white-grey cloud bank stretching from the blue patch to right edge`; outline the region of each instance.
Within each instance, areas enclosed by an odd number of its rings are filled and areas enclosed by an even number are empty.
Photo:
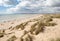
[[[60,12],[60,0],[18,0],[20,3],[7,12],[11,13],[55,13]]]

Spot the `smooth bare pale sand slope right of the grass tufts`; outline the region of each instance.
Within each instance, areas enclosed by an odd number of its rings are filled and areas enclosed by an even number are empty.
[[[56,26],[46,27],[43,33],[36,36],[35,41],[49,41],[51,39],[60,38],[60,19],[54,19]]]

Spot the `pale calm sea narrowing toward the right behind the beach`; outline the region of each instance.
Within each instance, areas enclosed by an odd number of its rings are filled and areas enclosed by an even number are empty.
[[[32,17],[36,14],[0,14],[0,23],[3,23],[4,21],[10,21],[14,19],[24,19]]]

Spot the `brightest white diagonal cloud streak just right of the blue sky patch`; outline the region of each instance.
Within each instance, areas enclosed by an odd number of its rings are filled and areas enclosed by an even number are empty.
[[[10,9],[8,9],[7,10],[7,12],[9,12],[9,11],[11,11],[11,12],[21,12],[21,10],[22,10],[22,8],[24,8],[25,6],[27,6],[28,5],[28,1],[23,1],[23,2],[21,2],[21,3],[19,3],[18,5],[16,5],[16,7],[14,8],[10,8]]]

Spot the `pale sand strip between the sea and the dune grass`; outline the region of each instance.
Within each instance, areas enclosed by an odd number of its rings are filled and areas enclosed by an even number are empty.
[[[19,24],[21,24],[23,22],[38,18],[40,16],[42,16],[42,15],[41,14],[40,15],[36,14],[36,15],[33,15],[32,17],[29,17],[29,18],[25,18],[25,19],[19,19],[18,18],[18,19],[15,19],[15,20],[11,20],[11,21],[7,21],[7,22],[4,22],[4,23],[0,23],[0,29],[1,28],[2,29],[7,29],[7,28],[9,28],[11,26],[14,27],[14,26],[19,25]]]

